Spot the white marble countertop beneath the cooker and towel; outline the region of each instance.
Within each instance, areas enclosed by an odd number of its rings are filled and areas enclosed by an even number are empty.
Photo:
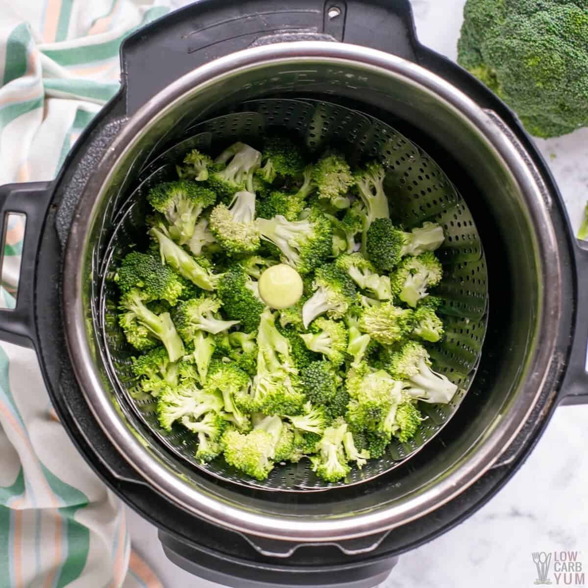
[[[455,59],[464,1],[412,0],[420,41]],[[577,230],[588,200],[588,128],[537,144]],[[536,449],[506,487],[465,523],[403,555],[382,588],[530,587],[537,577],[532,553],[541,551],[580,552],[578,561],[586,569],[587,429],[588,406],[557,409]],[[128,517],[133,546],[153,566],[165,588],[216,586],[169,562],[155,527],[133,512]],[[553,566],[554,560],[552,572]],[[559,584],[564,580],[569,583],[560,576]],[[575,581],[573,577],[572,586]]]

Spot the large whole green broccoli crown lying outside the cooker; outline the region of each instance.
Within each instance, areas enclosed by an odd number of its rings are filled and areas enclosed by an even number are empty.
[[[588,125],[583,0],[467,0],[457,61],[540,137]]]

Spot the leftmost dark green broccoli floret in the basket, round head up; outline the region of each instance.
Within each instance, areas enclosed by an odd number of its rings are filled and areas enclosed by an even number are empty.
[[[122,260],[115,282],[122,293],[140,289],[146,300],[167,300],[172,306],[183,293],[179,276],[152,255],[133,251]]]

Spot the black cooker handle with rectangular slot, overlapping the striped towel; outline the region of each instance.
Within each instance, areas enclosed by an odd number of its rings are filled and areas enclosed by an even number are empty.
[[[25,215],[25,235],[14,309],[0,309],[0,340],[24,347],[35,346],[35,268],[41,229],[52,195],[51,182],[15,183],[0,186],[0,246],[4,243],[10,213]]]

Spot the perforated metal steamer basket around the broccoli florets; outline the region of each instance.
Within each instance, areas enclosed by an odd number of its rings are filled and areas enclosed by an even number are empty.
[[[351,163],[378,159],[387,170],[385,188],[392,218],[404,228],[424,220],[438,222],[445,230],[445,243],[437,250],[444,277],[435,294],[442,298],[439,310],[446,336],[429,345],[434,369],[458,386],[447,405],[421,403],[427,419],[407,443],[392,442],[386,455],[370,460],[362,470],[353,468],[345,480],[326,483],[314,475],[308,459],[276,465],[262,482],[229,466],[222,457],[202,464],[195,459],[194,436],[178,426],[171,433],[159,427],[155,402],[134,400],[136,386],[130,366],[135,351],[126,343],[118,327],[118,290],[111,276],[131,243],[146,242],[144,219],[148,214],[146,195],[156,183],[175,179],[175,164],[185,153],[198,148],[217,153],[239,140],[260,147],[266,133],[281,129],[296,136],[311,152],[335,145]],[[155,153],[155,150],[153,151]],[[182,141],[154,156],[143,165],[138,185],[128,198],[115,203],[112,237],[105,254],[96,263],[102,281],[100,308],[95,316],[103,333],[103,354],[108,377],[116,390],[116,400],[136,413],[151,427],[159,442],[185,463],[209,475],[238,485],[282,492],[328,490],[366,482],[389,472],[414,455],[432,439],[457,408],[475,375],[486,330],[486,263],[472,216],[462,197],[445,173],[425,152],[391,126],[362,112],[313,100],[264,99],[242,103],[235,112],[189,128]]]

